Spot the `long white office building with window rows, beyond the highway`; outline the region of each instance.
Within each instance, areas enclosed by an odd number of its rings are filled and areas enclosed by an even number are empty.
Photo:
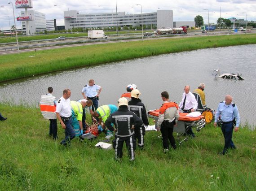
[[[116,18],[117,17],[117,18]],[[118,26],[141,26],[141,18],[143,26],[173,27],[172,10],[158,10],[154,13],[141,14],[125,14],[125,12],[116,13],[88,13],[82,14],[78,11],[64,11],[65,30],[71,28],[99,28],[114,27],[116,20]]]

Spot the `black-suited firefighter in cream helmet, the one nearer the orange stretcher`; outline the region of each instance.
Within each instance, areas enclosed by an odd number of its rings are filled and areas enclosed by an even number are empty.
[[[140,95],[141,93],[139,90],[137,89],[132,90],[131,92],[132,100],[128,102],[128,110],[134,112],[143,121],[142,126],[134,129],[135,131],[134,138],[135,138],[135,141],[138,139],[139,148],[144,148],[144,135],[146,132],[145,126],[149,125],[149,121],[148,121],[145,105],[141,103],[141,100],[139,99]]]

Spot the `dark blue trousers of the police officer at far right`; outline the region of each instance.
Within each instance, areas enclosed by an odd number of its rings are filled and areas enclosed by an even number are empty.
[[[233,122],[222,124],[221,126],[221,131],[225,139],[223,154],[225,154],[225,152],[227,152],[229,148],[235,148],[234,143],[232,141],[233,129],[234,129]]]

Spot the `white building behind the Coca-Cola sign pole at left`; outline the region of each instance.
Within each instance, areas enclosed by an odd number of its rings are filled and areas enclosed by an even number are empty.
[[[21,11],[22,17],[30,16],[31,21],[28,22],[28,26],[26,26],[26,21],[22,22],[23,33],[26,35],[26,28],[29,28],[29,34],[33,35],[35,33],[44,32],[46,30],[46,20],[45,14],[40,13],[35,10],[28,10],[27,15],[25,15],[25,11]]]

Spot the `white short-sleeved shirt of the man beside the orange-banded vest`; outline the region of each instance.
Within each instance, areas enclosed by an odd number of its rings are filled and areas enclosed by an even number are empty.
[[[70,117],[72,114],[70,99],[65,99],[63,96],[57,101],[56,112],[61,117]]]

